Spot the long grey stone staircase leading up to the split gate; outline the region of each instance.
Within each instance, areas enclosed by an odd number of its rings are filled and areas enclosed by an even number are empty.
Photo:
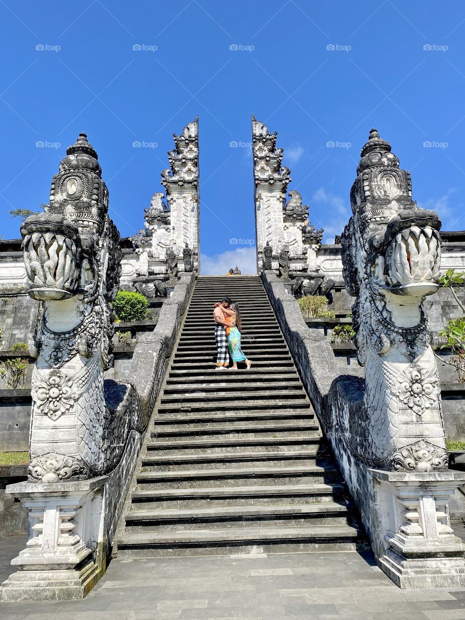
[[[247,371],[215,370],[213,303],[239,303]],[[258,276],[199,277],[146,434],[117,557],[354,549],[329,446]]]

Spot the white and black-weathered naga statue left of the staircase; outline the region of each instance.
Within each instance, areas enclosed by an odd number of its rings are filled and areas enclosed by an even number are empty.
[[[29,479],[82,480],[121,458],[135,417],[132,386],[104,382],[113,361],[120,235],[85,133],[53,177],[50,204],[21,226],[29,295],[43,303],[32,374]]]

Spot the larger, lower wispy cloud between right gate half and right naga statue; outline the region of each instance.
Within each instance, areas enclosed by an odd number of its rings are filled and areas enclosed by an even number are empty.
[[[351,211],[341,196],[320,187],[314,192],[310,203],[310,221],[315,228],[324,228],[323,243],[334,243],[334,236],[341,234]]]

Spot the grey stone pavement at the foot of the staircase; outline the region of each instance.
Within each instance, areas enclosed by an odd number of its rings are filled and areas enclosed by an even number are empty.
[[[463,529],[462,524],[458,524]],[[25,536],[0,541],[0,578]],[[82,601],[0,603],[0,620],[465,619],[465,590],[399,590],[371,553],[113,560]]]

